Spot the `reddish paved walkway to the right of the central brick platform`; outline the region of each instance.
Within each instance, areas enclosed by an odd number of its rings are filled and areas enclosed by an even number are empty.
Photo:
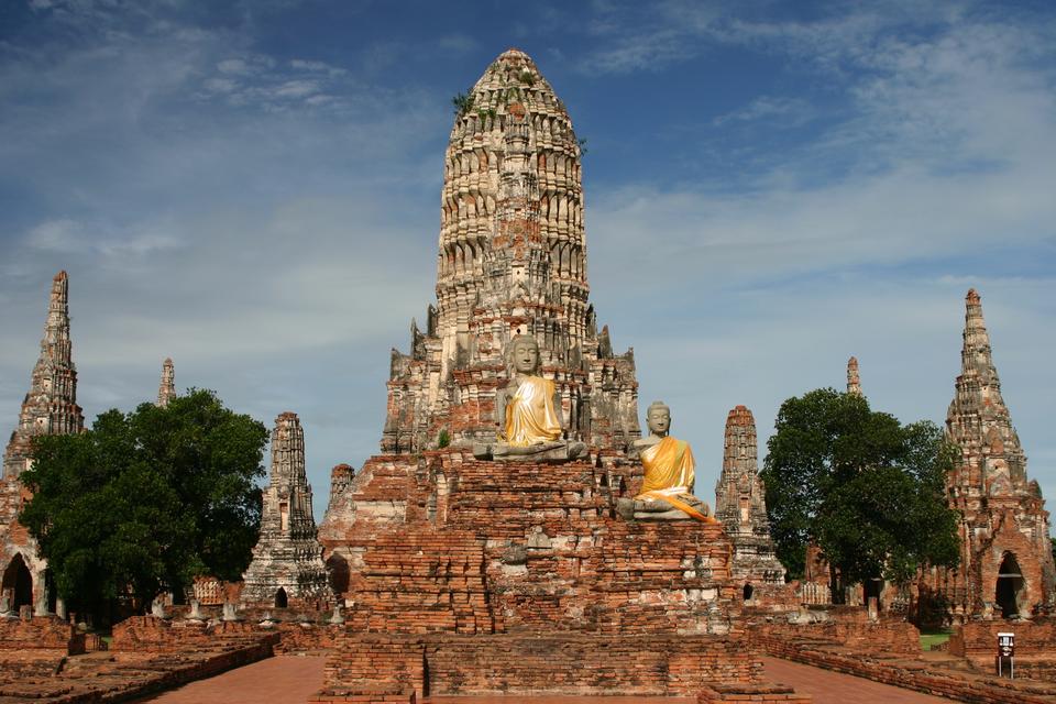
[[[763,657],[766,676],[814,696],[814,704],[949,704],[950,700],[902,690],[842,672]]]

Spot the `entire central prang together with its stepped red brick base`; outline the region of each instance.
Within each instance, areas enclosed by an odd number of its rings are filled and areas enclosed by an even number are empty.
[[[437,298],[393,356],[385,454],[334,469],[319,536],[346,630],[314,701],[766,690],[721,525],[616,514],[642,485],[634,360],[587,302],[571,121],[516,50],[451,132]],[[526,387],[552,432],[535,455],[510,437]]]

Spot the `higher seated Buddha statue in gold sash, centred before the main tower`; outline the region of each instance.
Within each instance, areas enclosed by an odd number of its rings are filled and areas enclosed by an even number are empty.
[[[566,460],[585,449],[564,440],[561,397],[551,380],[539,376],[539,343],[520,334],[509,343],[510,380],[495,397],[497,441],[474,446],[479,458]]]

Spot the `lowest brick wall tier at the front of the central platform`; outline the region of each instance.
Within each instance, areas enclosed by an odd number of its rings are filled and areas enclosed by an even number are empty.
[[[744,637],[349,631],[327,663],[321,694],[389,686],[419,695],[696,696],[722,684],[765,684]]]

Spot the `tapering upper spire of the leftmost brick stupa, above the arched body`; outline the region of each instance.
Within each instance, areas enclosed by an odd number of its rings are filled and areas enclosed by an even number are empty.
[[[35,436],[80,432],[85,417],[77,405],[77,367],[69,341],[69,279],[59,272],[52,282],[41,356],[33,367],[30,393],[22,402],[19,425],[3,453],[3,475],[14,479],[30,465]]]

